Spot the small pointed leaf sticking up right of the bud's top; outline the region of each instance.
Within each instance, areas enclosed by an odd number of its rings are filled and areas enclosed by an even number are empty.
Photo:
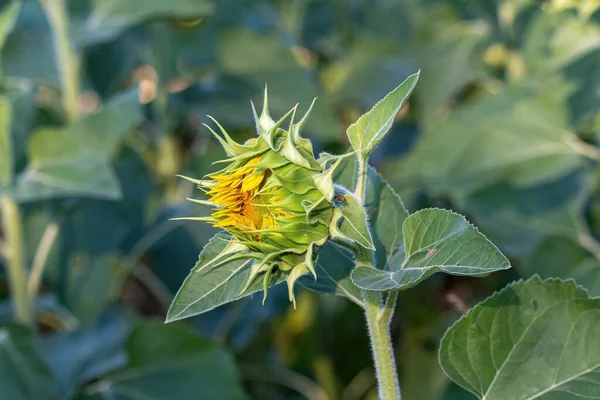
[[[419,72],[409,76],[396,89],[348,127],[348,139],[354,150],[367,157],[388,133],[396,115],[419,80]]]

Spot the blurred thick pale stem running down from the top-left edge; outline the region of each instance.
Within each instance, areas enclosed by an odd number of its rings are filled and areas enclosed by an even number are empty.
[[[63,107],[67,119],[72,121],[79,114],[79,60],[71,47],[67,7],[65,0],[40,0],[40,3],[52,30]]]

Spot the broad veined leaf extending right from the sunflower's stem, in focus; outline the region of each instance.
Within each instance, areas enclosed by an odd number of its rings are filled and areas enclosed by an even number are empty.
[[[451,211],[420,210],[406,218],[402,232],[404,248],[391,256],[386,270],[354,270],[352,280],[357,286],[377,291],[407,289],[436,272],[481,276],[510,268],[496,246]]]

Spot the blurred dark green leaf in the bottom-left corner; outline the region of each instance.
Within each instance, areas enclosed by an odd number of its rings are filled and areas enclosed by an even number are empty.
[[[58,385],[39,357],[33,334],[24,327],[0,328],[0,387],[10,400],[52,400]]]

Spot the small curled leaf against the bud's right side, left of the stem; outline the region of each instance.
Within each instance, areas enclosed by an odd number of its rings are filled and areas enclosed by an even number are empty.
[[[331,221],[331,237],[358,243],[366,249],[375,250],[369,231],[367,213],[358,199],[343,187],[336,188],[334,198],[334,204],[336,202],[339,204],[334,210]]]

